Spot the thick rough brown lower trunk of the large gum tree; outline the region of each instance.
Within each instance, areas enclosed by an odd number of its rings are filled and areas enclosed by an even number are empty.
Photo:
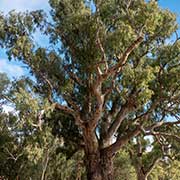
[[[100,151],[96,135],[86,129],[83,132],[85,140],[85,163],[88,180],[113,180],[113,158],[107,152]]]

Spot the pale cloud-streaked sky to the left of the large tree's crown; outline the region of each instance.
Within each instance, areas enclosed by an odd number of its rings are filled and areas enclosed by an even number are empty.
[[[16,11],[32,11],[50,9],[48,0],[0,0],[0,12],[7,14],[11,10]],[[42,36],[39,33],[35,34],[35,40],[42,42]],[[18,61],[8,61],[4,50],[0,49],[0,72],[5,72],[10,78],[17,78],[22,75],[27,75],[27,68],[24,68]]]

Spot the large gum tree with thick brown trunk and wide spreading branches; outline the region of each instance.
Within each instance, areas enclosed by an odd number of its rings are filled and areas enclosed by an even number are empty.
[[[87,179],[112,180],[113,157],[140,134],[159,144],[179,140],[176,16],[153,0],[49,4],[49,16],[1,14],[0,45],[36,77],[36,92],[54,108],[51,120],[65,126],[56,130],[84,151]],[[37,44],[36,29],[47,45]]]

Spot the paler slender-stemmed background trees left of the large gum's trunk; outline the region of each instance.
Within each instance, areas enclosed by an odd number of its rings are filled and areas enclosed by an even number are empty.
[[[4,112],[1,107],[0,110],[0,177],[10,180],[83,177],[82,152],[67,158],[63,151],[58,151],[64,147],[62,139],[53,136],[51,128],[41,122],[38,108],[42,106],[37,106],[40,98],[32,98],[25,91],[33,87],[31,80],[21,78],[10,82],[0,73],[0,84],[1,103],[14,109]],[[45,109],[45,103],[41,103]]]

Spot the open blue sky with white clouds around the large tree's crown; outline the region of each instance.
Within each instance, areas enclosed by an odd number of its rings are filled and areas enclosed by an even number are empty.
[[[159,0],[159,5],[175,12],[180,24],[180,0]],[[1,12],[6,14],[13,9],[16,11],[37,9],[48,11],[49,5],[48,0],[0,0]],[[36,40],[42,41],[42,37],[38,33],[36,34]],[[24,69],[22,64],[14,61],[9,62],[3,50],[0,50],[0,72],[6,72],[10,78],[28,74],[27,69]]]

